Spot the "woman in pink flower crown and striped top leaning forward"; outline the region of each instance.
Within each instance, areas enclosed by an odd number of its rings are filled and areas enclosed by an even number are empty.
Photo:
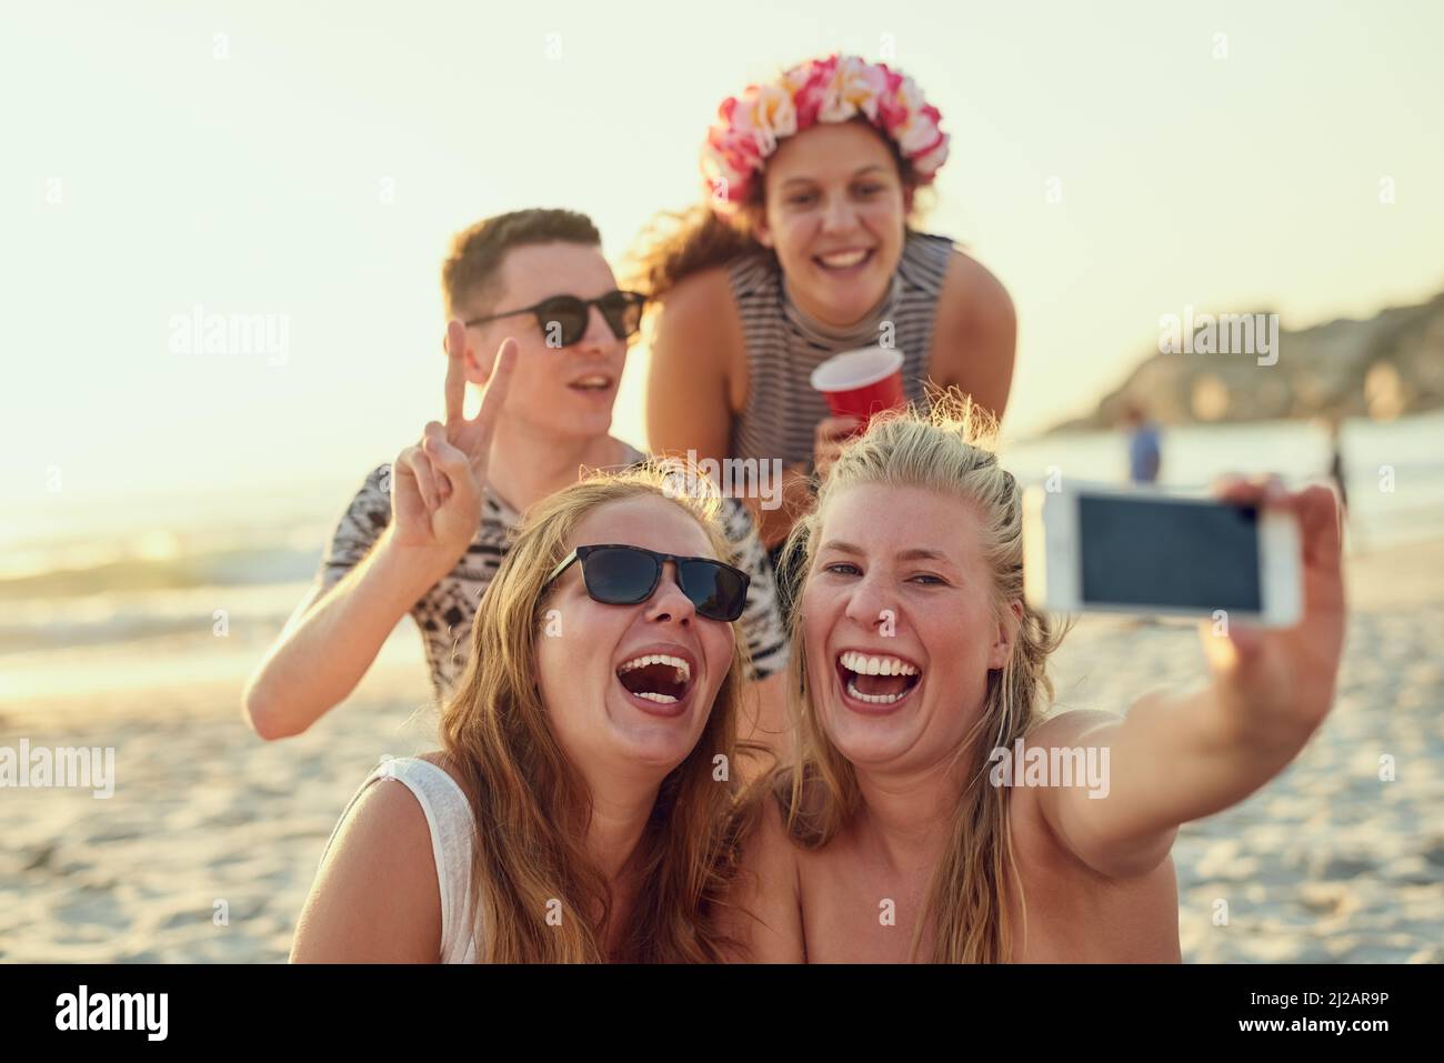
[[[849,55],[813,59],[728,98],[702,149],[706,202],[634,256],[648,321],[656,452],[780,459],[784,504],[760,513],[774,560],[858,422],[809,377],[881,344],[904,391],[957,387],[1002,416],[1017,321],[1004,286],[946,237],[913,228],[947,159],[940,114],[911,78]],[[745,468],[745,467],[744,467]]]

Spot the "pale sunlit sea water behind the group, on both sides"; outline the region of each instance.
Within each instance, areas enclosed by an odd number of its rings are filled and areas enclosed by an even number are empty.
[[[1349,422],[1343,443],[1356,549],[1444,533],[1444,412]],[[1301,422],[1170,429],[1162,446],[1162,482],[1188,491],[1206,490],[1226,472],[1276,472],[1300,484],[1321,480],[1328,468],[1324,432]],[[1002,458],[1024,484],[1054,469],[1115,482],[1126,472],[1123,438],[1110,432],[1005,443]],[[176,666],[188,657],[199,670],[244,673],[240,663],[215,661],[228,653],[243,663],[258,659],[306,594],[357,487],[355,477],[338,477],[289,490],[136,498],[120,507],[65,500],[9,514],[0,532],[0,699],[61,683],[56,670],[74,672],[74,651],[87,648],[85,660],[97,663],[105,647],[149,646],[176,657]]]

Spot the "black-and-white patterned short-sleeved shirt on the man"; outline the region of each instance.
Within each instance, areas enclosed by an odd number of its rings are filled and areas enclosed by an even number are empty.
[[[627,464],[645,461],[647,455],[627,446]],[[357,497],[336,524],[331,544],[321,560],[316,579],[329,591],[347,572],[361,563],[391,520],[391,467],[380,465],[365,478]],[[757,537],[757,527],[747,506],[736,498],[722,500],[722,523],[732,543],[735,563],[752,582],[747,608],[738,620],[752,654],[752,679],[764,679],[787,666],[787,638],[777,601],[777,583],[767,550]],[[412,618],[422,630],[422,644],[432,672],[436,698],[445,702],[455,692],[466,660],[471,657],[471,628],[482,592],[501,568],[521,514],[497,497],[490,485],[484,491],[481,527],[456,566],[412,607]]]

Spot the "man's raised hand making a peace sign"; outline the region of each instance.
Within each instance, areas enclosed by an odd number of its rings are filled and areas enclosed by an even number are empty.
[[[446,423],[430,422],[422,439],[397,456],[391,478],[391,537],[399,547],[436,555],[446,569],[466,552],[481,526],[481,497],[497,419],[520,348],[510,337],[497,350],[491,380],[475,417],[466,417],[466,326],[446,328]]]

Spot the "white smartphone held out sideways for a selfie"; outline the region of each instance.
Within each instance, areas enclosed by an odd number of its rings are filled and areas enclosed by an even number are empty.
[[[1298,523],[1288,513],[1155,488],[1074,484],[1024,493],[1024,595],[1102,609],[1291,627],[1302,615]]]

